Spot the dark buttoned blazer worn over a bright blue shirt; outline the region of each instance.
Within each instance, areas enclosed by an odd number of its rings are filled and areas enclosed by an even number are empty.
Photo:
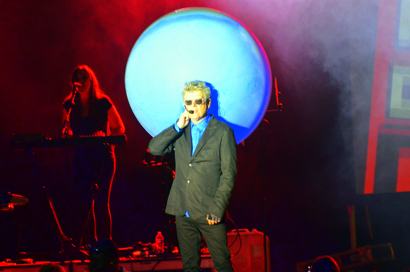
[[[165,212],[193,219],[214,214],[222,218],[237,174],[233,130],[212,118],[192,154],[191,124],[175,131],[174,126],[155,136],[148,146],[151,154],[163,156],[175,148],[175,179]]]

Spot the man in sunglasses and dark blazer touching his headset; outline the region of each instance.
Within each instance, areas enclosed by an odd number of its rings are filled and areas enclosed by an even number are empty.
[[[165,212],[175,215],[184,271],[201,271],[201,233],[215,269],[233,271],[223,219],[237,174],[234,133],[207,113],[211,93],[204,82],[186,83],[182,98],[185,111],[148,147],[156,156],[175,150],[175,179]]]

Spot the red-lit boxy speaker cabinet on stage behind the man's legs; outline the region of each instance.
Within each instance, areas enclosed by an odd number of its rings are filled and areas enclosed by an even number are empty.
[[[228,247],[232,254],[231,261],[234,271],[238,272],[264,272],[263,233],[253,229],[239,229],[228,233]],[[268,271],[271,271],[271,258],[269,251],[269,238],[266,236],[266,254]]]

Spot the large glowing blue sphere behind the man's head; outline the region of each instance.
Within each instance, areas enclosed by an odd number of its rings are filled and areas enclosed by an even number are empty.
[[[211,87],[209,113],[248,137],[269,105],[272,76],[255,35],[215,9],[186,8],[152,23],[138,38],[125,69],[125,89],[135,116],[155,136],[184,111],[185,82]]]

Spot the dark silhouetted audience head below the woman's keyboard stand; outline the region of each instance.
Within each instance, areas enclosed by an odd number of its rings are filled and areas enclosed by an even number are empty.
[[[101,239],[90,247],[88,268],[90,272],[120,272],[119,250],[110,239]]]

